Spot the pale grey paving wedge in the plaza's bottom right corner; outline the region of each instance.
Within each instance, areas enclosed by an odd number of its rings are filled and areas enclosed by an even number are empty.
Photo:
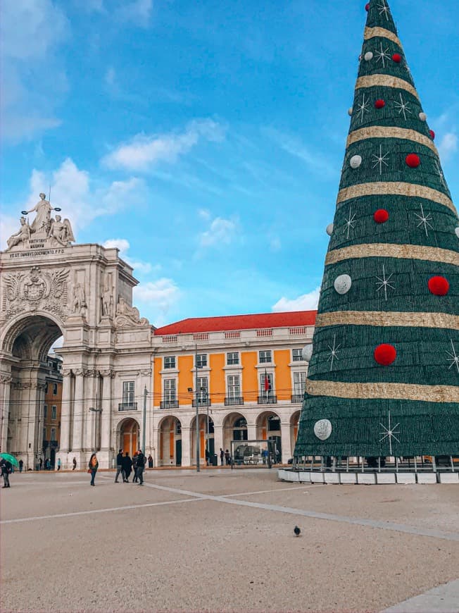
[[[429,613],[458,613],[459,579],[399,602],[394,607],[384,609],[382,613],[426,613],[427,611]]]

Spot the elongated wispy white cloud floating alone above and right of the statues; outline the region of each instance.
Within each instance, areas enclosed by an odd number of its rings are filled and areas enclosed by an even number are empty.
[[[159,162],[176,162],[202,138],[215,142],[223,137],[224,129],[219,123],[211,119],[196,119],[188,123],[181,133],[150,136],[138,134],[105,156],[102,163],[108,168],[148,171]]]

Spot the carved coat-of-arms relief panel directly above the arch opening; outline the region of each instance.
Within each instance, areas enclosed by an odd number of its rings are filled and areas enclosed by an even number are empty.
[[[30,273],[11,273],[4,275],[3,310],[5,318],[13,317],[23,311],[50,311],[63,320],[67,306],[68,269],[42,271],[39,266],[31,268]]]

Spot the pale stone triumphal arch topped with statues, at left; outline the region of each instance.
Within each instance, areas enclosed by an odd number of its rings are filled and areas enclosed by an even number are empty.
[[[151,390],[152,328],[132,307],[137,280],[118,249],[75,244],[59,210],[40,194],[0,253],[1,451],[34,467],[42,444],[46,356],[63,336],[56,349],[63,357],[57,457],[64,467],[74,457],[84,466],[95,447],[107,467],[125,416],[119,413],[123,383],[132,384],[139,401],[144,388]]]

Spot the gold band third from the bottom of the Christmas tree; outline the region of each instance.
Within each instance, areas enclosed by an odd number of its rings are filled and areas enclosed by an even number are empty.
[[[334,249],[327,253],[325,265],[327,266],[328,264],[336,264],[343,260],[363,257],[427,260],[459,266],[459,253],[451,251],[450,249],[424,247],[419,244],[388,244],[384,242],[353,244],[351,247]]]

